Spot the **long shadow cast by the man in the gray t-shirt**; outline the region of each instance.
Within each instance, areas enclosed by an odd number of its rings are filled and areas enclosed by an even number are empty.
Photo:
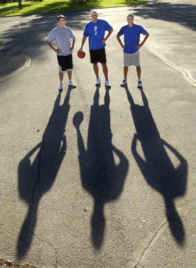
[[[61,93],[62,91],[59,91],[55,100],[42,142],[29,151],[18,166],[20,198],[28,205],[28,212],[18,237],[19,259],[26,255],[31,245],[40,199],[52,187],[66,154],[65,127],[70,111],[71,87],[68,87],[62,106],[60,105]]]

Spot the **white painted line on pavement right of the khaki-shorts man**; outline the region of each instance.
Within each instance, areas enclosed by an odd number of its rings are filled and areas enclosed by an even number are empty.
[[[189,71],[184,70],[184,69],[180,68],[179,66],[175,65],[174,63],[172,63],[171,61],[169,61],[169,59],[167,59],[163,55],[161,55],[158,52],[156,52],[155,50],[153,50],[149,45],[147,45],[147,44],[145,44],[145,45],[148,48],[148,50],[151,51],[153,54],[155,54],[156,56],[158,56],[159,58],[161,58],[164,62],[166,62],[168,65],[170,65],[174,69],[177,69],[178,71],[180,71],[183,74],[185,80],[189,81],[193,85],[196,85],[196,80],[194,80],[192,78],[192,75],[191,75],[191,73],[189,73]]]

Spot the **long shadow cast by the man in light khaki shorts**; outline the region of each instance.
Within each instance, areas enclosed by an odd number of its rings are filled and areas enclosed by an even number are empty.
[[[181,245],[185,240],[185,230],[175,209],[174,199],[186,192],[187,161],[172,145],[161,139],[143,89],[140,88],[143,106],[135,104],[128,87],[125,86],[125,89],[137,132],[131,144],[132,154],[147,184],[162,194],[172,235]],[[138,142],[141,143],[144,157],[137,149]],[[166,148],[179,161],[177,168],[173,166]]]

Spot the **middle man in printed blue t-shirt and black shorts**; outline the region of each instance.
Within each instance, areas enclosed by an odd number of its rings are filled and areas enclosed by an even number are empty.
[[[96,75],[96,85],[100,84],[100,78],[98,75],[98,62],[100,62],[105,77],[105,86],[110,87],[106,64],[105,42],[113,32],[113,28],[108,24],[108,22],[99,20],[98,13],[95,10],[91,12],[91,19],[92,21],[87,23],[84,28],[82,44],[79,50],[83,50],[84,43],[86,42],[87,37],[89,37],[90,58]],[[104,37],[105,31],[108,31],[108,34]]]

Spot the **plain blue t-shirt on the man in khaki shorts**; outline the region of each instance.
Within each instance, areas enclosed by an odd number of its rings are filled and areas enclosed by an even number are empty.
[[[137,24],[134,24],[132,27],[126,25],[120,29],[118,35],[124,35],[124,53],[133,54],[138,51],[135,46],[140,42],[141,33],[145,35],[147,31]]]

